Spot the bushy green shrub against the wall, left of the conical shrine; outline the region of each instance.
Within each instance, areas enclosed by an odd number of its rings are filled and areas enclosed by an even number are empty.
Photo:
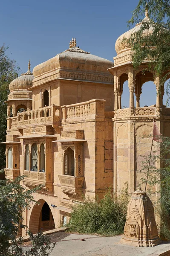
[[[124,232],[127,203],[127,189],[117,197],[109,189],[101,201],[86,200],[84,204],[73,207],[69,230],[105,236],[119,235]]]

